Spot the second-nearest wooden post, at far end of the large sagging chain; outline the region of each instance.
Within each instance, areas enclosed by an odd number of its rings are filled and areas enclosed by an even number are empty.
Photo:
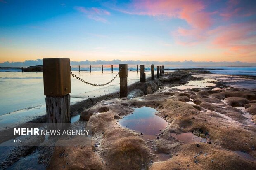
[[[127,64],[119,64],[120,98],[127,97],[128,95],[128,88],[127,88],[128,70],[127,69],[128,69]]]

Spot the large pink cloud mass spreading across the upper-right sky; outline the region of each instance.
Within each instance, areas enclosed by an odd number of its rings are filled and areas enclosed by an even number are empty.
[[[177,44],[195,45],[204,42],[214,48],[224,49],[225,54],[255,55],[256,24],[253,22],[238,24],[235,20],[236,17],[255,14],[255,7],[239,0],[229,0],[222,7],[209,12],[206,11],[209,4],[212,3],[202,0],[133,0],[121,9],[117,7],[112,9],[126,14],[152,16],[156,19],[185,20],[189,26],[179,27],[171,32]],[[223,23],[216,16],[233,20],[230,23]],[[225,26],[221,26],[223,24]]]

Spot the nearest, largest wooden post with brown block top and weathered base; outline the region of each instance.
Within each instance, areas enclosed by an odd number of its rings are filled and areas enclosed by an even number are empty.
[[[70,123],[70,60],[44,58],[43,68],[47,123],[53,123],[49,128],[62,128],[60,123]]]

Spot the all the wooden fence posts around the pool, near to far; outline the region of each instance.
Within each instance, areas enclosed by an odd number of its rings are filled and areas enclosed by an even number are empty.
[[[43,83],[46,96],[47,123],[60,128],[60,123],[70,123],[71,66],[69,58],[43,59]],[[128,96],[128,65],[119,64],[120,97]],[[137,65],[137,72],[138,72]],[[79,65],[80,71],[80,65]],[[113,72],[113,65],[111,65]],[[90,66],[91,72],[91,66]],[[103,72],[103,65],[102,65]],[[164,73],[164,66],[157,66],[157,77]],[[151,79],[154,79],[154,65],[151,65]],[[140,82],[146,82],[144,65],[140,65]]]

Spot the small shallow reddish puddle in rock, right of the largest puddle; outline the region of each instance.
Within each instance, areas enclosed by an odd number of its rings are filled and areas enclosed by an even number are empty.
[[[181,142],[184,142],[184,144],[190,144],[194,142],[208,142],[206,138],[198,137],[190,132],[187,133],[171,133],[173,137],[175,137],[177,140],[180,140]]]

